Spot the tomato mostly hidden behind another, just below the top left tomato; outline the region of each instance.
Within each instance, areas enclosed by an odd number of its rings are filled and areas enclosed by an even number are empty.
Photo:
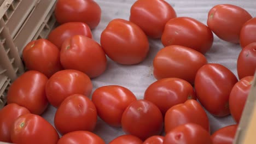
[[[74,35],[85,35],[92,38],[91,29],[86,23],[67,22],[53,29],[48,35],[48,40],[61,49],[62,43]]]

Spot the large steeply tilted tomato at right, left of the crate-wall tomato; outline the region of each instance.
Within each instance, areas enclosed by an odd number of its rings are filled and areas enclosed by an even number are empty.
[[[223,65],[203,65],[195,77],[195,91],[200,103],[214,116],[227,116],[229,94],[237,82],[236,76]]]

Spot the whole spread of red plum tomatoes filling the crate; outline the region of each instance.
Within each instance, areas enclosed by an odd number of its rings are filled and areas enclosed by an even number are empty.
[[[231,113],[239,123],[256,68],[256,18],[243,8],[219,4],[209,11],[206,26],[177,17],[164,0],[138,0],[130,11],[129,21],[108,23],[100,45],[91,33],[101,20],[99,5],[92,0],[57,1],[60,25],[48,39],[31,41],[22,52],[28,71],[9,87],[8,105],[0,111],[0,141],[101,144],[91,132],[99,116],[127,133],[111,144],[232,143],[237,124],[210,135],[203,107],[213,116]],[[223,65],[207,62],[204,54],[212,47],[213,33],[240,43],[240,81]],[[139,64],[148,55],[148,37],[161,38],[165,47],[153,59],[157,80],[144,98],[138,100],[117,85],[92,93],[91,79],[104,73],[107,56],[119,64]],[[40,116],[49,104],[57,109],[55,128]],[[160,136],[163,129],[166,135]]]

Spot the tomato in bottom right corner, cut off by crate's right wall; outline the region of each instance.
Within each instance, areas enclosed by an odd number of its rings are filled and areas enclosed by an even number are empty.
[[[232,144],[235,139],[237,124],[221,128],[212,134],[213,144]]]

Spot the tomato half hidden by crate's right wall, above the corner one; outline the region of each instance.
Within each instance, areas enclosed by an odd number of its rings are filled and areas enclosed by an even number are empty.
[[[229,96],[229,109],[232,117],[239,123],[247,96],[251,90],[253,76],[243,77],[232,88]]]

